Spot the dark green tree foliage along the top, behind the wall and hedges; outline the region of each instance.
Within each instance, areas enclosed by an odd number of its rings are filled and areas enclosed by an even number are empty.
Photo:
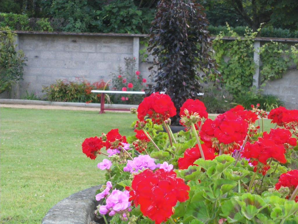
[[[297,0],[196,0],[213,26],[297,30]],[[59,31],[148,33],[157,0],[1,0],[0,12],[63,19]]]

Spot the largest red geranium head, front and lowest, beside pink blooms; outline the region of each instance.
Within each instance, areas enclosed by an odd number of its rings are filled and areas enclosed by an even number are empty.
[[[140,205],[144,216],[154,220],[156,224],[166,222],[173,214],[177,202],[186,201],[189,186],[184,180],[176,177],[174,171],[147,169],[134,176],[130,200]]]

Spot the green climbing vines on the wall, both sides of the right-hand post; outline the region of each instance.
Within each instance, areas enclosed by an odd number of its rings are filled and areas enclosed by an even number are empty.
[[[223,40],[220,33],[213,41],[214,58],[221,72],[221,81],[226,90],[237,96],[249,90],[255,73],[254,38],[257,32],[246,29],[244,37],[240,38],[227,25],[229,36],[235,40]],[[298,45],[288,45],[280,42],[268,42],[260,47],[260,81],[282,78],[288,68],[298,65]],[[215,77],[210,77],[214,79]]]

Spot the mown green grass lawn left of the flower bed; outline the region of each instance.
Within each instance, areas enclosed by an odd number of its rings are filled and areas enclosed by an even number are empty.
[[[103,183],[95,161],[81,150],[86,137],[112,128],[132,135],[129,113],[0,108],[0,223],[41,223],[63,198]],[[265,120],[266,130],[273,128]]]

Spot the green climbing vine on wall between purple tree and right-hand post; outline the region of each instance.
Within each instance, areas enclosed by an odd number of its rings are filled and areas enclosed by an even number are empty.
[[[229,25],[227,25],[229,36],[235,40],[223,40],[220,33],[213,41],[214,58],[221,73],[222,83],[233,95],[247,91],[252,86],[252,77],[255,64],[254,38],[257,32],[246,29],[244,37],[238,36]]]

